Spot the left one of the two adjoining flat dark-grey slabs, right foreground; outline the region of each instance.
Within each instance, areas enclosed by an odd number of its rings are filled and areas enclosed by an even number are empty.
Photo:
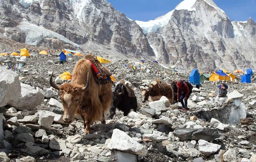
[[[193,132],[198,131],[198,129],[192,128],[176,128],[173,134],[179,137],[182,141],[192,139]]]

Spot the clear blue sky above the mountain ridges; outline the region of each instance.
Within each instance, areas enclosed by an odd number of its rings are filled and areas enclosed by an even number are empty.
[[[175,9],[183,0],[107,0],[132,20],[148,21]],[[231,21],[256,21],[256,0],[213,0]]]

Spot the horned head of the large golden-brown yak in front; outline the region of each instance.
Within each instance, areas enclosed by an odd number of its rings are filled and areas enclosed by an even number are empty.
[[[52,72],[53,75],[53,72]],[[52,75],[50,77],[50,85],[60,91],[60,97],[64,108],[63,122],[71,123],[74,121],[74,115],[77,114],[80,103],[83,99],[84,92],[90,88],[89,73],[87,74],[87,84],[79,85],[74,83],[63,83],[56,85],[52,82]]]

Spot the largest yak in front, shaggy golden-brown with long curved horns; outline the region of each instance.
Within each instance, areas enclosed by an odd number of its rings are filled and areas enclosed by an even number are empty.
[[[81,59],[76,63],[71,83],[55,85],[52,82],[52,75],[49,82],[53,88],[60,91],[65,123],[73,122],[74,115],[80,114],[84,119],[85,134],[90,134],[90,125],[93,122],[101,119],[102,124],[106,123],[104,113],[111,105],[113,84],[96,82],[90,60]]]

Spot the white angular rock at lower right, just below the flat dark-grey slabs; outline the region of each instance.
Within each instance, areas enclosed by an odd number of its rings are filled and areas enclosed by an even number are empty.
[[[198,144],[198,150],[206,156],[210,156],[221,148],[221,145],[209,143],[203,139],[199,139]]]

